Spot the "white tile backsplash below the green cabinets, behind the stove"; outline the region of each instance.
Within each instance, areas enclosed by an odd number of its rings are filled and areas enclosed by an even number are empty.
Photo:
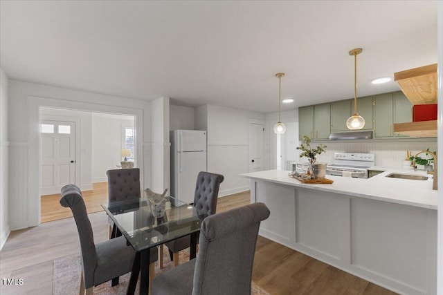
[[[334,162],[333,155],[336,152],[373,153],[376,166],[399,167],[401,161],[406,159],[406,151],[426,150],[437,151],[436,140],[424,140],[423,142],[322,142],[327,146],[326,153],[317,157],[318,162],[331,164]],[[316,146],[317,143],[311,144]],[[423,157],[424,155],[420,155]]]

